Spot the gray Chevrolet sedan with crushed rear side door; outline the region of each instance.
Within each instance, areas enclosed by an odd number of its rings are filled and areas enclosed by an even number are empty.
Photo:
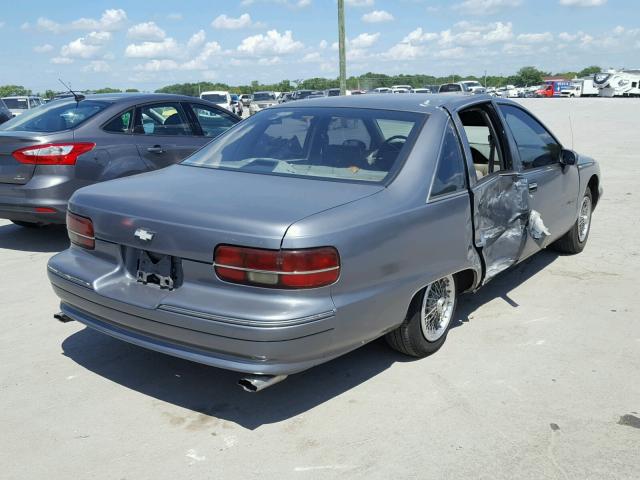
[[[582,251],[601,194],[597,163],[509,100],[305,100],[76,192],[48,274],[67,318],[256,391],[383,335],[434,353],[460,293]]]

